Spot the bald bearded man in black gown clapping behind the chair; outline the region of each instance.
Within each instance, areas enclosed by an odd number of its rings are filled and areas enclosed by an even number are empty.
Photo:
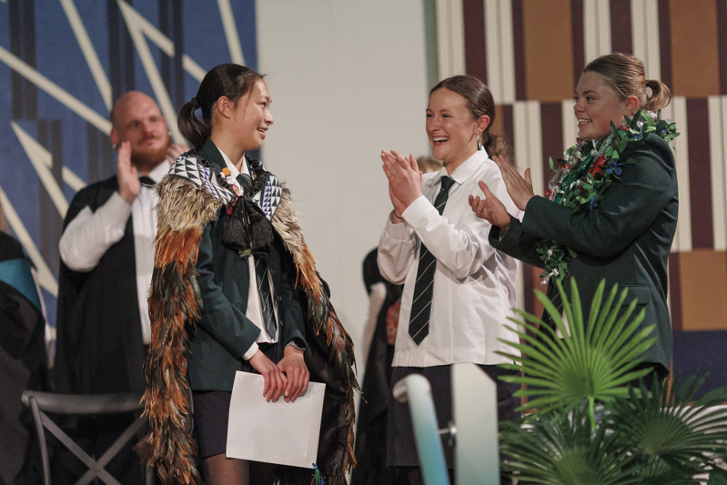
[[[157,102],[130,91],[111,112],[116,175],[78,191],[59,241],[56,390],[72,394],[144,391],[142,366],[151,338],[146,297],[157,235],[152,187],[187,151],[175,145]],[[64,424],[92,455],[100,456],[135,419],[104,416]],[[75,482],[86,470],[58,449],[54,480]],[[144,480],[131,445],[106,470],[122,483]]]

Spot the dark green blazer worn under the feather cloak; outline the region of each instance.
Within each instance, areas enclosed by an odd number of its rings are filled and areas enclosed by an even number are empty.
[[[212,140],[199,155],[219,171],[225,161]],[[225,210],[222,207],[220,210]],[[197,255],[197,283],[202,296],[201,318],[190,333],[187,371],[194,390],[232,390],[242,355],[257,340],[260,329],[246,316],[250,275],[247,257],[222,242],[218,219],[207,224]],[[298,292],[293,291],[295,268],[283,243],[275,234],[268,251],[268,269],[278,305],[278,359],[293,338],[305,342],[303,311]]]

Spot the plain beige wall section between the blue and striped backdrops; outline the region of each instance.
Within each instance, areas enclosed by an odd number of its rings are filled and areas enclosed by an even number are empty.
[[[275,125],[263,157],[291,188],[308,245],[357,346],[363,258],[391,204],[379,152],[429,153],[419,0],[259,0],[259,70]]]

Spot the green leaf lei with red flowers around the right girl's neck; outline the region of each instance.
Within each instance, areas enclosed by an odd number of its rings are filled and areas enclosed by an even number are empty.
[[[568,160],[559,159],[559,169],[554,168],[550,158],[550,169],[556,174],[549,184],[546,196],[556,203],[570,207],[573,212],[589,211],[598,207],[603,193],[611,186],[614,178],[621,175],[621,167],[637,163],[621,154],[644,143],[649,133],[670,141],[679,136],[671,119],[661,119],[661,111],[637,111],[633,117],[625,117],[620,126],[611,123],[611,132],[601,141],[579,139],[576,145],[565,151]],[[538,248],[540,259],[545,264],[540,278],[545,283],[554,277],[567,278],[568,260],[576,258],[576,252],[555,241],[543,240]]]

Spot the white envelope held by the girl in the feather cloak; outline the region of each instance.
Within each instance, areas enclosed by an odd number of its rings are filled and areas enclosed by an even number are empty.
[[[237,371],[229,404],[227,456],[313,468],[326,385],[310,382],[294,402],[263,398],[263,377]]]

